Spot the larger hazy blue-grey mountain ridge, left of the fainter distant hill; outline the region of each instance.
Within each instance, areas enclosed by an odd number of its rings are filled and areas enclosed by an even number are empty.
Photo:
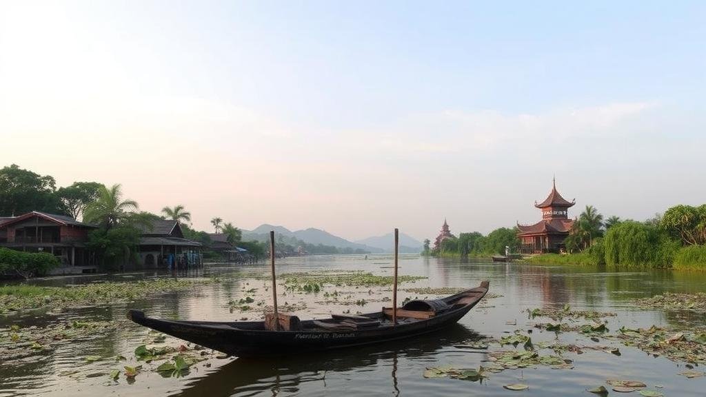
[[[309,244],[323,244],[337,248],[363,249],[364,251],[369,252],[383,252],[383,249],[380,249],[378,247],[369,247],[365,244],[350,242],[342,237],[332,235],[329,232],[326,232],[325,230],[316,229],[313,227],[309,227],[309,229],[305,230],[297,230],[295,232],[292,232],[291,230],[287,229],[287,227],[265,224],[260,225],[253,230],[243,230],[243,239],[267,241],[270,238],[270,230],[275,230],[275,236],[282,235],[284,237],[287,237],[285,239],[285,243],[287,244],[292,244],[292,239],[299,239]]]

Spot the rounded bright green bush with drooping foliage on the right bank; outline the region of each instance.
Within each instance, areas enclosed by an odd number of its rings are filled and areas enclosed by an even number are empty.
[[[669,267],[680,245],[657,227],[634,221],[611,227],[603,244],[606,265],[627,268]]]

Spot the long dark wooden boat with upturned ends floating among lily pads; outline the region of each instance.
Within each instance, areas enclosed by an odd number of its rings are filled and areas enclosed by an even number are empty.
[[[128,319],[148,328],[212,348],[227,355],[260,357],[294,355],[316,350],[383,343],[412,338],[455,324],[488,292],[489,282],[440,300],[413,300],[393,309],[360,316],[299,321],[279,314],[274,328],[268,321],[177,321],[153,319],[131,310]],[[266,319],[267,320],[267,319]],[[273,317],[270,316],[270,320]]]

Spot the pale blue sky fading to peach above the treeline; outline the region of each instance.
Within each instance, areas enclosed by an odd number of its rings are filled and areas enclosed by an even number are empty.
[[[417,239],[706,202],[703,1],[0,0],[0,166]]]

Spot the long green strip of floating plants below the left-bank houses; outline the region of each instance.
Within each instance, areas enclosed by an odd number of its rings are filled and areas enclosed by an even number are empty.
[[[74,287],[4,285],[0,287],[0,314],[44,307],[72,307],[124,302],[150,294],[189,290],[211,280],[157,278],[131,283],[95,283]]]

